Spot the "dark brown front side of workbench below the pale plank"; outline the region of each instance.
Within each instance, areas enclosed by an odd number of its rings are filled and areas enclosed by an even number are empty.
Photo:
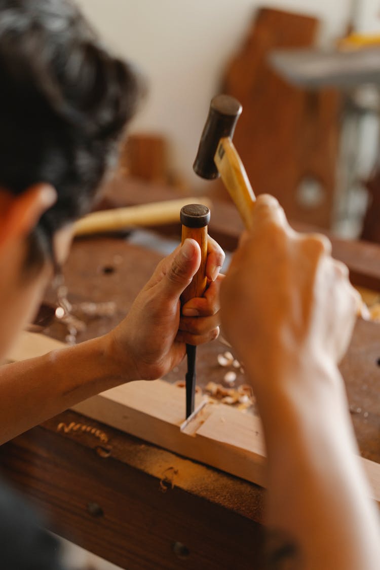
[[[51,530],[128,570],[263,568],[263,528],[252,520],[262,500],[253,486],[210,478],[199,466],[184,489],[184,466],[166,452],[92,421],[107,433],[111,453],[102,453],[93,436],[58,431],[62,422],[88,418],[66,412],[0,447],[2,473]]]

